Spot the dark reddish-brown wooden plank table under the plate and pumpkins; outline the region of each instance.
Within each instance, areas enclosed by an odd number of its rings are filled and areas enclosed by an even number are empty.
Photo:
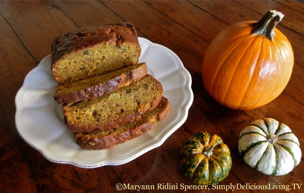
[[[259,20],[268,10],[285,15],[277,28],[293,47],[291,79],[283,93],[267,105],[250,111],[224,108],[214,102],[202,83],[201,66],[206,49],[225,27],[238,21]],[[240,131],[248,122],[272,117],[290,126],[300,140],[300,147],[304,146],[304,4],[296,1],[1,1],[0,13],[1,192],[116,192],[117,184],[156,188],[157,184],[178,185],[178,188],[182,184],[195,185],[181,172],[178,155],[183,141],[198,131],[218,134],[231,149],[233,167],[218,185],[255,183],[293,187],[292,184],[303,183],[303,158],[289,174],[267,176],[242,160],[237,143]],[[194,102],[186,122],[161,147],[123,165],[84,169],[48,161],[19,136],[15,126],[15,95],[26,74],[51,53],[51,42],[60,33],[125,21],[134,24],[138,36],[175,52],[191,73]],[[176,192],[173,187],[163,191]],[[225,192],[219,187],[209,187],[209,191]],[[195,190],[187,190],[192,191]],[[272,190],[279,191],[284,190]]]

